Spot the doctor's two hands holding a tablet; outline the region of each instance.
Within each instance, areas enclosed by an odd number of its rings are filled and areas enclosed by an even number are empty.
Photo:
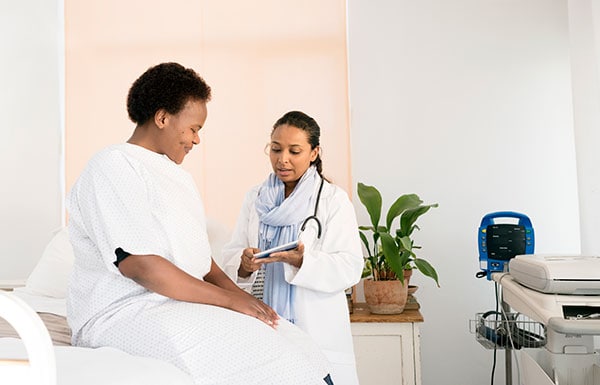
[[[302,266],[304,255],[304,244],[293,241],[283,245],[261,251],[254,247],[248,247],[242,252],[242,262],[238,270],[240,277],[248,277],[260,267],[267,263],[286,262],[292,266]]]

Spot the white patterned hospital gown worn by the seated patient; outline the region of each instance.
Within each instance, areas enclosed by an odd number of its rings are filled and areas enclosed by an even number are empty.
[[[73,344],[113,346],[171,362],[197,384],[324,384],[327,360],[281,320],[277,330],[225,308],[150,292],[115,266],[115,249],[160,255],[202,279],[211,266],[192,177],[133,144],[98,153],[68,197],[75,265],[68,295]]]

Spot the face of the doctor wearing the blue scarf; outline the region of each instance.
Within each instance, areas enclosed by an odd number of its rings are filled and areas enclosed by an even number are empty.
[[[286,196],[296,187],[318,153],[318,147],[310,148],[306,131],[287,124],[273,130],[269,156],[273,172],[286,186]]]

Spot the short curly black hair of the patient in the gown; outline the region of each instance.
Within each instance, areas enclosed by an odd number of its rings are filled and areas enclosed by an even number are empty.
[[[194,70],[178,63],[150,67],[131,86],[127,95],[129,119],[141,125],[160,109],[175,115],[190,100],[209,101],[210,87]]]

